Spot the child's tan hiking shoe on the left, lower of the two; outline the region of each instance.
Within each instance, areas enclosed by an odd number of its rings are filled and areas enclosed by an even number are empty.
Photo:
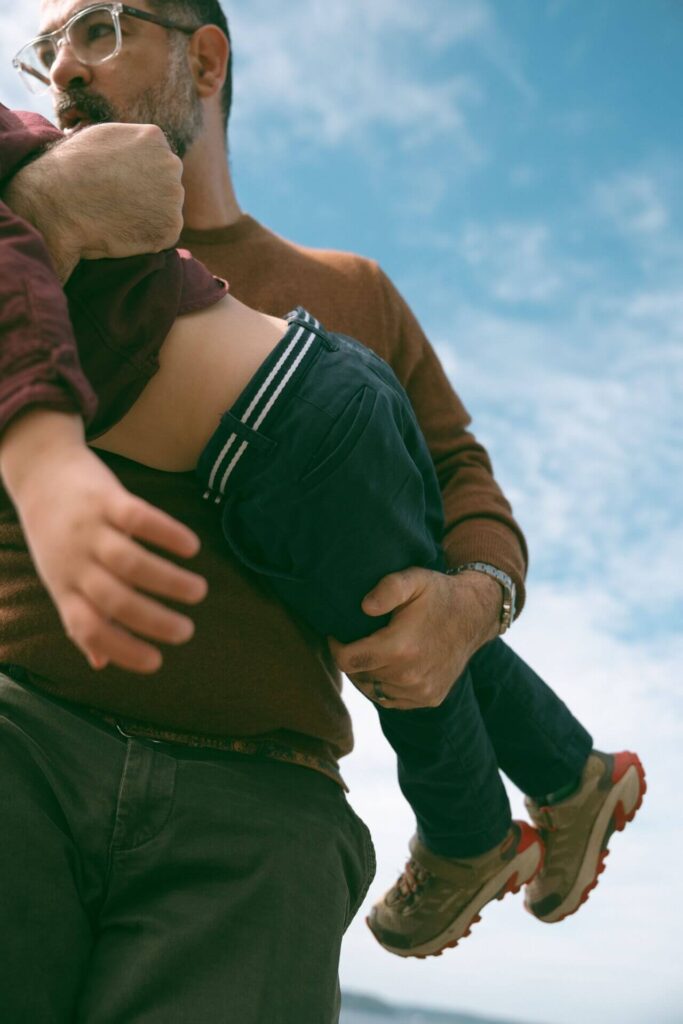
[[[543,863],[539,834],[513,821],[503,842],[479,857],[438,857],[417,837],[396,884],[367,919],[378,942],[398,956],[438,956],[457,946],[493,899],[519,892]]]

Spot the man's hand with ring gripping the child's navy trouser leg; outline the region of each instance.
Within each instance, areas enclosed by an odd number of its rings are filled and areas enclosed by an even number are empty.
[[[435,708],[471,656],[498,636],[503,593],[481,572],[445,575],[410,568],[385,577],[366,596],[369,615],[393,612],[384,629],[355,643],[330,639],[339,669],[371,699],[379,683],[385,708]]]

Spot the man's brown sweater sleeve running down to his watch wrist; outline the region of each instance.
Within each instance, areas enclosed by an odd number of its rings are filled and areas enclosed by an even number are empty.
[[[525,596],[524,536],[434,349],[391,281],[377,272],[392,346],[388,361],[408,391],[441,487],[447,562],[457,567],[482,561],[503,569],[515,582],[519,612]]]

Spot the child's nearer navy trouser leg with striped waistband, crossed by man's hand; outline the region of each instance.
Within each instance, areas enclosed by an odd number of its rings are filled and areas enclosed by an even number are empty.
[[[384,625],[360,609],[382,577],[443,567],[440,493],[389,368],[324,332],[309,330],[290,350],[291,342],[224,418],[199,474],[223,504],[234,555],[316,632],[349,642]],[[299,382],[279,392],[295,364]],[[379,714],[426,845],[473,856],[499,843],[510,809],[469,675],[439,708]]]

